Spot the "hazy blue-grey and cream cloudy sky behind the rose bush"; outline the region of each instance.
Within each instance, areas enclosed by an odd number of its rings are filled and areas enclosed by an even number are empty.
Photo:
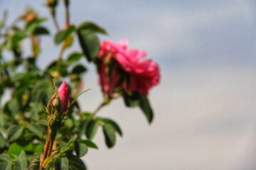
[[[8,23],[28,7],[50,17],[43,3],[1,0],[0,11],[9,10]],[[124,137],[107,149],[98,132],[100,149],[84,157],[89,169],[256,169],[254,0],[73,0],[70,11],[71,23],[95,21],[109,33],[101,40],[127,38],[161,67],[161,84],[149,94],[152,125],[139,108],[113,101],[99,115],[117,120]],[[52,21],[47,24],[55,33]],[[29,43],[23,47],[30,50]],[[42,48],[39,63],[46,67],[59,47],[44,37]],[[78,43],[73,49],[80,50]],[[102,100],[95,72],[90,66],[84,77],[84,89],[92,88],[79,98],[85,111]]]

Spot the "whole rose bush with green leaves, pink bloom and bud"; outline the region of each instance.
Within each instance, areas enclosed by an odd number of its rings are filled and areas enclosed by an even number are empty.
[[[117,135],[122,137],[114,120],[97,115],[117,98],[127,107],[141,108],[149,123],[154,118],[148,94],[159,84],[158,64],[144,60],[144,50],[128,49],[125,39],[100,43],[97,35],[107,31],[92,21],[70,24],[69,0],[63,0],[62,28],[56,18],[59,2],[46,1],[55,31],[48,30],[46,18],[33,8],[11,25],[6,25],[6,13],[0,19],[0,169],[85,170],[81,158],[98,149],[93,140],[99,128],[109,148]],[[59,52],[43,67],[38,62],[44,57],[41,42],[50,33]],[[80,50],[73,50],[75,40]],[[25,41],[31,43],[30,51],[24,52]],[[94,111],[82,111],[85,101],[78,101],[87,91],[82,91],[87,64],[97,68],[103,94]]]

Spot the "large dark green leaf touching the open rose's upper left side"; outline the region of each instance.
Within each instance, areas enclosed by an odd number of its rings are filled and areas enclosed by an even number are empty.
[[[100,50],[100,40],[95,33],[87,30],[78,30],[78,39],[82,52],[87,58],[88,62],[91,62],[97,56]]]

